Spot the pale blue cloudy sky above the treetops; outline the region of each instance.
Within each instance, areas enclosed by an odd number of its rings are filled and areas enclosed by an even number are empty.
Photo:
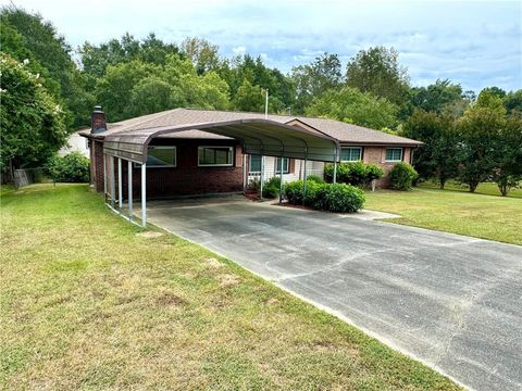
[[[0,0],[1,4],[9,1]],[[322,52],[344,65],[361,49],[399,51],[412,85],[437,78],[478,91],[522,88],[522,2],[513,1],[239,1],[15,0],[40,12],[77,47],[129,31],[166,40],[203,37],[223,55],[248,52],[289,72]]]

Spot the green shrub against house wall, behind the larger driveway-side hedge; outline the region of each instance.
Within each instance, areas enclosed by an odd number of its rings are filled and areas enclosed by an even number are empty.
[[[375,164],[362,162],[340,163],[337,165],[337,182],[352,186],[369,187],[373,179],[382,178],[383,168]],[[334,165],[326,164],[324,167],[326,180],[332,182],[334,178]]]

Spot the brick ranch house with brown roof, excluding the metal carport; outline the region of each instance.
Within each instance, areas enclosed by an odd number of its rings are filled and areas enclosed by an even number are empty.
[[[337,155],[340,153],[339,162],[363,161],[364,163],[374,163],[382,166],[386,173],[397,162],[410,163],[413,150],[422,144],[420,141],[361,126],[303,116],[268,115],[264,118],[264,115],[260,113],[174,109],[114,124],[104,123],[104,114],[101,110],[95,111],[92,118],[94,130],[83,130],[79,135],[89,139],[90,177],[97,191],[105,190],[107,192],[104,178],[108,178],[108,175],[104,175],[104,166],[108,166],[108,160],[105,156],[105,162],[103,162],[103,154],[104,151],[108,153],[111,148],[114,148],[105,146],[104,149],[103,144],[108,136],[110,139],[133,140],[133,137],[141,137],[144,134],[154,135],[153,139],[148,141],[150,143],[145,143],[148,144],[146,162],[148,198],[240,192],[245,190],[252,178],[261,176],[262,165],[264,165],[264,179],[278,175],[281,157],[274,157],[274,152],[272,152],[272,156],[264,157],[258,154],[244,155],[244,147],[241,146],[245,146],[245,142],[241,143],[239,136],[231,138],[222,134],[211,133],[210,128],[208,128],[208,131],[201,130],[209,124],[266,119],[270,123],[282,124],[287,129],[289,125],[290,129],[296,129],[296,133],[300,129],[301,133],[316,135],[312,137],[334,140],[335,143],[340,146],[339,151],[336,152]],[[191,128],[192,125],[194,128]],[[222,127],[226,126],[223,125]],[[179,128],[183,128],[183,131],[176,130]],[[174,129],[173,133],[162,133],[170,131],[170,129]],[[245,128],[240,131],[246,135]],[[273,131],[276,133],[277,129],[273,129]],[[160,135],[160,133],[162,134]],[[274,135],[276,135],[275,133]],[[256,138],[256,129],[252,128],[246,137]],[[274,137],[273,142],[281,142],[281,140],[276,140],[276,137]],[[126,153],[125,143],[129,143],[129,141],[111,141],[109,144],[117,144],[121,153]],[[289,155],[291,155],[291,152]],[[129,161],[133,161],[133,159],[129,159]],[[138,168],[139,162],[136,160],[133,162],[135,163],[129,162],[128,164]],[[109,164],[114,164],[114,161]],[[126,167],[127,163],[124,163],[122,172],[124,177],[126,176]],[[307,175],[322,176],[323,167],[324,163],[322,161],[310,159],[307,162]],[[302,159],[283,157],[284,181],[302,178],[303,169],[304,162]],[[133,188],[139,186],[139,169],[133,169]],[[381,179],[377,184],[381,187],[387,185],[387,177]],[[126,186],[125,180],[123,191],[127,191]],[[137,189],[135,192],[139,195]]]

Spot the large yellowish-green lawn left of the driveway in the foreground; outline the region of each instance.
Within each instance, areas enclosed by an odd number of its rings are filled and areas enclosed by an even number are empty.
[[[1,194],[3,389],[458,389],[85,185]]]

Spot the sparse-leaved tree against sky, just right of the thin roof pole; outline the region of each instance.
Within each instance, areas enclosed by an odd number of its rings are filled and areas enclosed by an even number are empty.
[[[311,64],[294,67],[290,77],[296,86],[296,112],[303,113],[314,98],[340,88],[340,60],[337,54],[323,53]]]

